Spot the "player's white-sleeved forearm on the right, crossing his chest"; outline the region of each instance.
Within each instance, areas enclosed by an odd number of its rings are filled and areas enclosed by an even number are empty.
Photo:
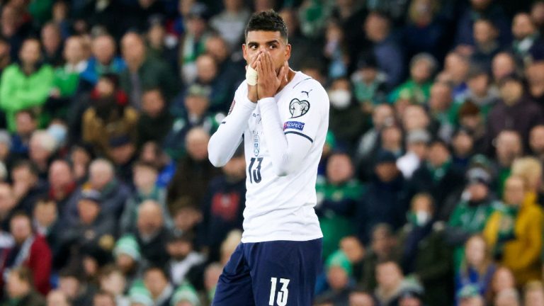
[[[293,137],[287,137],[283,128],[274,98],[263,98],[259,101],[263,133],[266,137],[267,147],[272,159],[276,175],[286,176],[302,164],[302,160],[312,147],[312,141],[290,141]]]

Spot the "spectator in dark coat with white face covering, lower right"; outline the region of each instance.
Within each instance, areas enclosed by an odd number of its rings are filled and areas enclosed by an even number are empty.
[[[397,236],[397,254],[405,275],[416,278],[425,288],[420,293],[427,305],[446,305],[453,283],[450,246],[446,244],[444,222],[436,221],[435,204],[428,193],[411,199],[407,225]],[[401,295],[402,296],[402,295]]]

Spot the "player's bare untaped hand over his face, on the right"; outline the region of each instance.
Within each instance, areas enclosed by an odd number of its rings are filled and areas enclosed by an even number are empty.
[[[288,72],[287,64],[285,63],[278,74],[274,69],[272,56],[269,52],[263,52],[257,57],[257,91],[259,99],[276,96],[280,85],[282,84]]]

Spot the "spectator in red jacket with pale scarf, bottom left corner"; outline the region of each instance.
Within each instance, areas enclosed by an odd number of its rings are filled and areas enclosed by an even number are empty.
[[[42,295],[47,295],[51,289],[49,277],[52,261],[51,249],[47,245],[47,241],[41,235],[33,232],[30,217],[23,213],[11,217],[10,232],[15,246],[9,251],[6,258],[6,271],[13,271],[19,267],[29,268],[34,288]],[[19,275],[20,280],[21,278],[23,277]],[[9,282],[7,285],[9,288]]]

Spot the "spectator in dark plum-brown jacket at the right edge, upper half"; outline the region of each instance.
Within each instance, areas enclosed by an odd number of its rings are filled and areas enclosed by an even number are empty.
[[[499,132],[505,129],[519,132],[523,139],[523,148],[528,151],[529,132],[533,126],[544,123],[540,107],[523,90],[523,81],[517,74],[509,74],[499,82],[501,100],[489,112],[487,120],[487,146]]]

